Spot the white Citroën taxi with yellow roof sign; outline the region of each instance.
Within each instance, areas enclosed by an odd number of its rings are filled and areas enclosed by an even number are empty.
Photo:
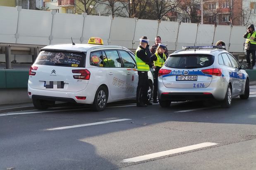
[[[138,72],[134,54],[125,47],[106,46],[98,37],[88,44],[55,44],[41,49],[29,70],[28,94],[37,109],[55,101],[92,105],[136,99]],[[153,76],[148,100],[152,98]]]

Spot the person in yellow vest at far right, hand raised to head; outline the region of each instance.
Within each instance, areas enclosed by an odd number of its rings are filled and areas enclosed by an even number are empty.
[[[244,38],[246,38],[244,49],[246,49],[246,62],[248,63],[248,68],[253,69],[255,65],[255,51],[256,51],[256,32],[254,29],[254,25],[251,24],[246,33],[244,34]],[[250,54],[252,56],[252,63],[250,59]]]

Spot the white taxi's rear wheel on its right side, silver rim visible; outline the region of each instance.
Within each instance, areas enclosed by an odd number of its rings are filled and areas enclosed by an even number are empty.
[[[103,111],[107,105],[108,92],[105,87],[100,86],[96,91],[91,109],[96,112]]]

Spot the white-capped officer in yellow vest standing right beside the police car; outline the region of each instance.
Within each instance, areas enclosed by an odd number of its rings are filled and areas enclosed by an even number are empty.
[[[157,91],[158,91],[158,72],[160,68],[163,67],[166,61],[166,56],[165,56],[166,45],[167,44],[159,43],[156,49],[156,53],[151,56],[151,61],[154,61],[153,103],[158,103],[158,101],[156,100]]]

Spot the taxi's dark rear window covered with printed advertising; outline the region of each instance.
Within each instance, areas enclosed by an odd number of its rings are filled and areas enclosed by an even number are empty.
[[[62,67],[84,67],[84,53],[71,51],[41,51],[35,64]]]

